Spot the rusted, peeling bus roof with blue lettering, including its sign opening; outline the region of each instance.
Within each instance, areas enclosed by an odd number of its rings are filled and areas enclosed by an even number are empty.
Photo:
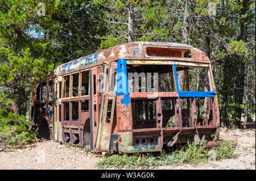
[[[135,41],[118,44],[114,47],[59,65],[55,68],[54,75],[68,74],[101,65],[103,62],[116,61],[118,59],[182,61],[210,64],[210,60],[204,52],[191,45]]]

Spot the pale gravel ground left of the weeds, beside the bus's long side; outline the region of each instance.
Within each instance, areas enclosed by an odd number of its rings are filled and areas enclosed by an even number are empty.
[[[94,165],[100,158],[82,148],[50,140],[0,152],[0,169],[97,169]]]

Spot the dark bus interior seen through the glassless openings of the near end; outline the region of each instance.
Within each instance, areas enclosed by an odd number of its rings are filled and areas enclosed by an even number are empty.
[[[180,71],[185,71],[185,80],[184,80],[184,91],[209,91],[209,81],[208,78],[205,80],[205,73],[207,73],[207,68],[204,67],[183,67],[177,68],[177,75]],[[174,74],[172,71],[171,65],[127,65],[127,73],[138,73],[138,75],[144,75],[144,79],[151,81],[152,90],[158,92],[176,92]],[[142,73],[142,74],[141,74]],[[152,73],[152,74],[147,74]],[[153,73],[158,73],[157,77],[154,79]],[[193,75],[199,74],[199,79],[196,80]],[[150,78],[147,77],[150,75]],[[128,75],[129,77],[129,75]],[[134,77],[129,80],[129,92],[147,92],[146,85],[148,81],[142,80],[142,77],[138,76],[138,83],[135,85]],[[154,89],[154,81],[158,82],[157,87]],[[188,82],[187,82],[188,81]],[[197,82],[205,82],[208,84],[206,87],[197,87],[195,89]],[[142,83],[144,82],[144,83]],[[136,90],[133,90],[134,87],[137,87]],[[175,115],[175,100],[176,97],[163,97],[161,98],[161,107],[163,112],[163,127],[175,127],[174,115]],[[206,100],[207,101],[207,100]],[[189,117],[191,117],[192,107],[191,107],[191,98],[182,99],[182,119],[184,121],[184,127],[189,127]],[[209,119],[209,112],[204,113],[204,108],[209,110],[208,105],[204,107],[205,98],[197,99],[197,115],[200,118],[200,125],[207,124],[210,122],[206,121]],[[140,98],[139,94],[137,98],[131,98],[132,108],[133,108],[133,129],[140,128],[155,128],[156,127],[156,98]],[[207,123],[203,123],[203,121]]]

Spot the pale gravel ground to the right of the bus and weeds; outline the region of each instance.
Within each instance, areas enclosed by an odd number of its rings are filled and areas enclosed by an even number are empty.
[[[178,170],[255,170],[255,129],[235,131],[221,128],[221,140],[236,140],[237,146],[234,154],[236,159],[222,159],[198,165],[184,164],[182,166],[160,166],[156,169]]]

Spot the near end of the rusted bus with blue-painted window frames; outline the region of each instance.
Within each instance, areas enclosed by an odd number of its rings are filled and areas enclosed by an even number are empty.
[[[208,57],[190,46],[143,51],[105,65],[93,150],[138,153],[198,144],[203,136],[212,141],[219,113]]]

